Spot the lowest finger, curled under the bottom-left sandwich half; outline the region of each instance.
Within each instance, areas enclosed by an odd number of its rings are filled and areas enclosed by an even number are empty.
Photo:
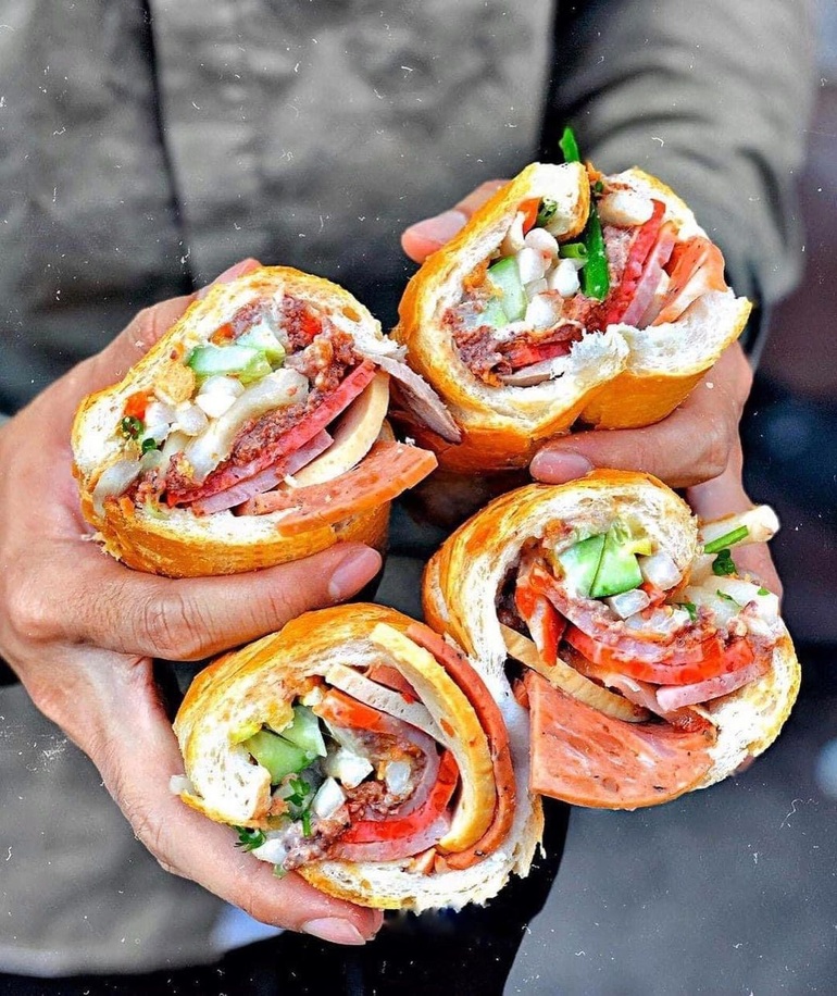
[[[183,772],[183,761],[150,662],[126,669],[111,684],[107,743],[97,738],[87,747],[137,837],[166,871],[264,923],[338,944],[363,944],[374,936],[379,912],[326,896],[292,873],[277,879],[271,864],[235,847],[232,829],[172,794],[168,780]]]

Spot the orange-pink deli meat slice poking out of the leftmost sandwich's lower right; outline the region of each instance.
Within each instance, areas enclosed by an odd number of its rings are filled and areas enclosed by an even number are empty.
[[[318,525],[333,525],[397,498],[436,469],[429,450],[405,443],[376,443],[352,470],[310,487],[257,495],[238,509],[242,515],[265,515],[287,509],[276,528],[295,536]]]

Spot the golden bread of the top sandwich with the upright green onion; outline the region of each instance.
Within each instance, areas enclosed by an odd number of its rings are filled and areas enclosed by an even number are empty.
[[[704,235],[686,204],[649,174],[628,170],[609,179],[662,200],[682,238]],[[520,203],[535,197],[559,202],[566,237],[584,228],[589,212],[585,169],[533,163],[424,262],[401,300],[393,335],[407,344],[410,364],[436,388],[462,429],[458,445],[416,429],[420,445],[434,449],[448,470],[525,466],[545,440],[569,432],[576,421],[626,428],[665,418],[740,335],[750,312],[749,301],[732,290],[712,291],[676,322],[647,329],[619,324],[585,336],[553,381],[489,387],[462,362],[442,316],[459,300],[465,276],[499,247]]]

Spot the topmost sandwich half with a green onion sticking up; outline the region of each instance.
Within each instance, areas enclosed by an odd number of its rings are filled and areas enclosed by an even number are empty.
[[[570,145],[567,145],[567,140]],[[462,441],[413,435],[452,471],[525,466],[576,424],[670,414],[745,326],[750,303],[686,204],[641,170],[533,163],[434,252],[396,338]]]

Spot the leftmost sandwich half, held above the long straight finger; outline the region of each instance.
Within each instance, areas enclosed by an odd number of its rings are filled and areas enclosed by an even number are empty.
[[[390,381],[457,427],[347,290],[284,266],[213,286],[73,427],[82,505],[105,549],[173,576],[380,545],[389,502],[436,465],[396,443]]]

